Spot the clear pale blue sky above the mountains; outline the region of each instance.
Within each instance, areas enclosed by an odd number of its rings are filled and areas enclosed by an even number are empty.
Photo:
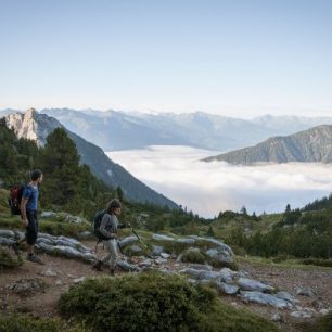
[[[0,0],[0,108],[332,115],[332,1]]]

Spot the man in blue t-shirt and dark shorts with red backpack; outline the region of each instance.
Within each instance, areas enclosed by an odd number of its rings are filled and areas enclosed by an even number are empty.
[[[43,265],[42,260],[35,254],[35,243],[38,235],[38,186],[42,181],[42,173],[40,169],[34,169],[30,174],[30,182],[24,186],[21,200],[21,217],[22,224],[26,228],[25,239],[17,240],[13,244],[13,248],[20,255],[18,246],[23,241],[28,245],[28,254],[26,259],[33,263]]]

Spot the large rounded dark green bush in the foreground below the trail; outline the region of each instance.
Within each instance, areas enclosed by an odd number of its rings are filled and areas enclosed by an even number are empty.
[[[59,311],[93,331],[278,331],[203,285],[156,272],[88,279],[60,297]]]

